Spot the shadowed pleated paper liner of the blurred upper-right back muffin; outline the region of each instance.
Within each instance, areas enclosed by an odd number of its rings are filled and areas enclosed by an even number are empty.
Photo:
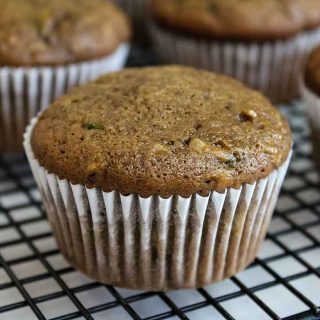
[[[226,74],[262,91],[274,102],[296,97],[305,60],[320,42],[320,29],[261,43],[201,40],[170,32],[154,22],[150,22],[150,32],[165,62]]]

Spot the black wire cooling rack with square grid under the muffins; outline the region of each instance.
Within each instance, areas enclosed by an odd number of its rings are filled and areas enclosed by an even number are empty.
[[[156,60],[135,48],[130,65]],[[295,152],[269,233],[244,272],[199,290],[125,290],[94,282],[57,250],[23,156],[0,156],[0,320],[320,319],[320,182],[299,101],[281,110]]]

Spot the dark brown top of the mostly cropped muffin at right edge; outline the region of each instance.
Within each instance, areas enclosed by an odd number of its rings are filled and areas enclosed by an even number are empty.
[[[305,83],[314,93],[320,95],[320,47],[316,48],[309,57]]]

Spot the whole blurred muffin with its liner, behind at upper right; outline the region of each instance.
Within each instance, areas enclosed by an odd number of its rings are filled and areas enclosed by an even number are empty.
[[[298,76],[320,40],[319,0],[152,0],[160,57],[237,78],[274,102],[298,93]]]

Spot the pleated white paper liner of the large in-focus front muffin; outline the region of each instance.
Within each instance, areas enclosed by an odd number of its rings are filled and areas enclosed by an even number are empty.
[[[162,291],[196,288],[230,277],[255,258],[291,153],[266,179],[239,190],[189,198],[124,196],[73,185],[49,174],[24,148],[61,253],[100,282]]]

